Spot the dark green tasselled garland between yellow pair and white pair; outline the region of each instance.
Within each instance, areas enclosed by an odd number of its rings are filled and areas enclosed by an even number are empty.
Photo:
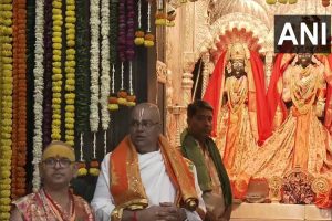
[[[85,176],[87,173],[86,165],[83,158],[83,136],[89,129],[89,115],[90,115],[90,69],[89,69],[89,17],[86,17],[85,9],[89,7],[89,1],[76,0],[76,80],[75,81],[75,130],[80,135],[80,160],[77,176]]]

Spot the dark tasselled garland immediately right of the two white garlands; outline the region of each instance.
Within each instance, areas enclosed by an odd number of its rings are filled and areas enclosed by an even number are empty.
[[[117,1],[111,1],[110,7],[110,62],[112,64],[111,95],[108,97],[108,109],[118,109],[117,95],[115,93],[115,64],[117,59]]]

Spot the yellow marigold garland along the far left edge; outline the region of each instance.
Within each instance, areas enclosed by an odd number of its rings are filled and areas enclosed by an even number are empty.
[[[10,217],[10,166],[12,133],[12,0],[0,1],[0,77],[1,145],[0,145],[0,220]]]

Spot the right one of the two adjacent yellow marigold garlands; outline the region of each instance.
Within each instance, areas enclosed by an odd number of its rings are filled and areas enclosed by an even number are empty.
[[[65,141],[74,147],[74,118],[75,118],[75,0],[66,0],[65,28],[66,28],[66,51],[65,51]]]

